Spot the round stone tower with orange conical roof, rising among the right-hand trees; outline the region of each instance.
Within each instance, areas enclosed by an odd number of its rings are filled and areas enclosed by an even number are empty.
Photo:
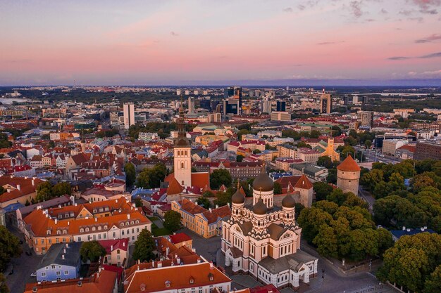
[[[337,166],[337,187],[343,190],[344,193],[359,193],[360,167],[348,155],[344,161]]]

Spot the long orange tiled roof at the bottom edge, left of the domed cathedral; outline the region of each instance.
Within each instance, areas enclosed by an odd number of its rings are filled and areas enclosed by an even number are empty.
[[[231,282],[231,279],[211,263],[195,263],[135,271],[124,281],[124,292],[171,291],[225,282]]]

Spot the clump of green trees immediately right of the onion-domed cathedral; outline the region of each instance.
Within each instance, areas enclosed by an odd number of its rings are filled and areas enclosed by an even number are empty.
[[[368,256],[380,256],[393,244],[387,230],[375,227],[366,203],[339,188],[326,200],[303,209],[298,222],[304,239],[323,256],[362,261]]]

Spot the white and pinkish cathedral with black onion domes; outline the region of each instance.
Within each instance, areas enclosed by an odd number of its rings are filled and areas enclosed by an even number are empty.
[[[222,226],[225,266],[265,284],[295,289],[316,276],[318,259],[300,250],[302,228],[290,192],[282,207],[274,206],[273,197],[274,183],[264,167],[254,179],[252,205],[245,205],[242,188],[232,195],[232,215]]]

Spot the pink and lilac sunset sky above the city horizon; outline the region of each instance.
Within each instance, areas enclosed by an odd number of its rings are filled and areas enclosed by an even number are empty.
[[[0,0],[0,85],[441,79],[441,0]]]

